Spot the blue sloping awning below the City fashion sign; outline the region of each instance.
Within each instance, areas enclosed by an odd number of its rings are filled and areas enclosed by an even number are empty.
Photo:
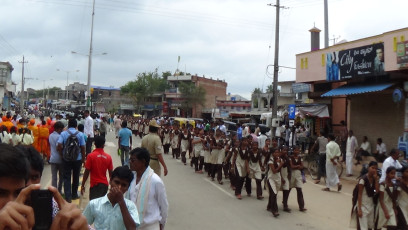
[[[383,83],[376,85],[343,85],[339,88],[330,90],[329,92],[323,94],[322,97],[335,97],[340,95],[378,92],[383,91],[392,85],[392,83]]]

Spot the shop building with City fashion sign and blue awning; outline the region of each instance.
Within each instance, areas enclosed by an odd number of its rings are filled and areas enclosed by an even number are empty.
[[[325,49],[316,47],[320,31],[310,31],[312,51],[296,55],[296,82],[310,84],[310,102],[328,106],[331,131],[344,120],[372,151],[377,138],[396,148],[408,130],[408,28]]]

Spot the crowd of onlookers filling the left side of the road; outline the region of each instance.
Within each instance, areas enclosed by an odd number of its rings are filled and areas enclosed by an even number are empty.
[[[47,138],[24,132],[28,129],[24,127],[28,118],[18,113],[13,116],[6,113],[2,119],[0,229],[35,226],[30,193],[40,189],[45,163],[51,164],[52,186],[48,190],[53,194],[52,203],[41,204],[44,210],[48,205],[53,210],[52,224],[47,229],[164,229],[168,212],[164,183],[150,168],[154,158],[147,149],[132,149],[131,142],[121,142],[127,129],[126,121],[121,122],[123,131],[118,132],[118,139],[119,144],[127,145],[129,155],[126,164],[123,162],[123,166],[114,168],[111,156],[104,151],[109,127],[105,117],[91,115],[86,110],[76,117],[59,114],[40,117],[38,126],[31,118],[30,126],[38,129],[44,126],[44,133],[47,128]],[[18,124],[22,131],[17,133],[19,142],[14,143],[7,137],[12,136]],[[31,137],[30,143],[21,141],[26,136]],[[83,212],[71,203],[80,197],[82,167],[85,171],[81,195],[86,192],[85,183],[90,178],[90,202]]]

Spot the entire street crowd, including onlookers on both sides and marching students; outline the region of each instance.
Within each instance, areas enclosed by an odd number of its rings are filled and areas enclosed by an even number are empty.
[[[263,200],[263,190],[268,190],[266,210],[274,217],[280,215],[277,201],[280,191],[283,211],[292,212],[288,206],[292,189],[296,189],[298,210],[307,211],[302,190],[306,181],[302,153],[306,147],[297,145],[296,141],[298,135],[310,135],[304,127],[278,128],[271,140],[258,126],[239,125],[236,135],[232,135],[222,120],[189,123],[169,118],[101,116],[84,111],[82,117],[57,114],[54,118],[40,117],[38,125],[35,123],[34,118],[18,114],[2,116],[0,168],[7,172],[0,174],[0,189],[10,195],[0,203],[0,229],[32,227],[31,219],[23,221],[21,217],[33,215],[25,200],[32,190],[39,189],[35,184],[40,182],[44,162],[51,164],[52,227],[55,224],[60,228],[69,225],[72,229],[163,229],[168,215],[161,179],[168,174],[164,154],[171,154],[182,166],[191,166],[195,173],[206,174],[215,183],[222,185],[229,181],[238,200],[243,199],[244,187],[246,195],[252,196],[255,182],[256,199]],[[107,132],[114,132],[118,140],[121,166],[116,168],[112,157],[104,151]],[[318,150],[320,163],[315,183],[325,176],[324,191],[335,186],[337,191],[342,189],[337,164],[344,161],[350,176],[354,158],[359,164],[361,156],[372,155],[367,137],[359,148],[353,132],[346,133],[338,144],[333,134],[326,138],[322,132],[312,147]],[[140,148],[133,149],[133,135],[141,139]],[[17,160],[11,152],[19,152],[17,157],[26,159],[12,169],[10,163],[13,165]],[[398,150],[393,149],[384,157],[386,152],[385,144],[379,139],[375,153],[380,155],[374,157],[383,162],[381,174],[377,174],[378,163],[373,161],[361,176],[353,194],[351,227],[407,229],[408,170],[399,163]],[[5,164],[9,166],[3,169]],[[85,171],[80,186],[82,167]],[[400,172],[398,176],[397,172]],[[88,178],[90,202],[81,213],[70,203],[79,198],[79,186],[81,195],[86,192]],[[8,181],[15,179],[25,182],[7,187]],[[67,216],[65,212],[72,215]]]

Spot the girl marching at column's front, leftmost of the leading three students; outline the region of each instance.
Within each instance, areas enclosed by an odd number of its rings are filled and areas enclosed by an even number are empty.
[[[274,217],[279,216],[277,195],[282,181],[280,170],[283,166],[283,161],[281,158],[279,158],[279,156],[279,150],[275,150],[268,162],[269,172],[267,184],[269,189],[269,200],[266,210],[272,212]]]

